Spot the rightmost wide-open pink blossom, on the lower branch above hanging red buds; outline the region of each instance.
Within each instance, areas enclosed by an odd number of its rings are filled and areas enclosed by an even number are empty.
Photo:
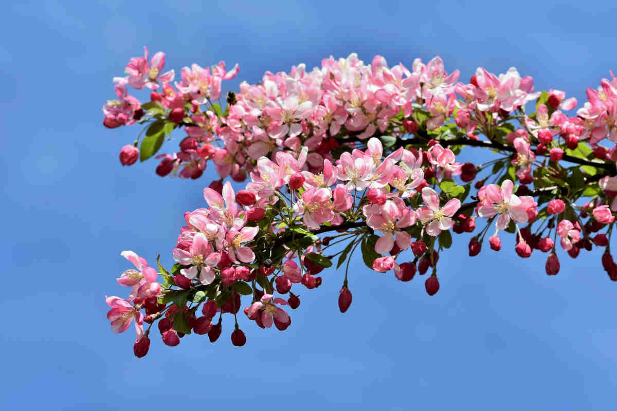
[[[510,219],[516,222],[527,222],[529,219],[526,211],[529,208],[529,200],[533,201],[533,198],[529,196],[519,198],[512,193],[513,187],[511,180],[503,181],[501,188],[496,184],[489,184],[486,187],[486,197],[478,208],[478,215],[482,218],[492,218],[499,214],[495,222],[497,230],[508,227]]]

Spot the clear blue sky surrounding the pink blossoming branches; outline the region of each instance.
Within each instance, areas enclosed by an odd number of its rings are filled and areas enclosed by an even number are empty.
[[[243,322],[243,348],[231,346],[228,321],[215,344],[189,336],[168,348],[154,332],[151,352],[136,359],[133,332],[113,334],[105,317],[104,295],[126,293],[115,283],[128,268],[120,251],[151,262],[160,252],[170,265],[182,214],[204,206],[210,181],[118,162],[137,129],[104,129],[101,106],[144,44],[165,51],[176,73],[238,62],[228,87],[331,54],[381,54],[391,65],[438,54],[462,79],[478,66],[515,66],[537,89],[582,102],[586,87],[617,72],[615,6],[550,3],[12,4],[0,25],[0,407],[613,409],[617,283],[600,251],[575,261],[561,253],[561,272],[548,277],[546,255],[516,257],[512,237],[471,259],[470,234],[455,236],[433,297],[424,277],[401,283],[356,258],[346,314],[336,303],[343,274],[324,272],[286,332]]]

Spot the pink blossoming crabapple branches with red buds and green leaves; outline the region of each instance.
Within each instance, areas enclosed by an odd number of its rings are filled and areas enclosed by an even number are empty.
[[[424,285],[434,295],[451,231],[474,232],[481,221],[470,256],[481,252],[488,232],[491,249],[500,251],[505,231],[516,234],[519,256],[549,253],[545,271],[555,275],[559,237],[572,258],[604,248],[602,266],[617,280],[610,254],[617,211],[612,73],[569,116],[576,99],[534,91],[531,77],[515,68],[501,75],[478,68],[461,83],[439,57],[416,59],[410,70],[388,67],[381,56],[365,65],[351,54],[312,71],[300,64],[290,73],[267,72],[259,84],[241,83],[223,110],[222,81],[233,79],[238,65],[193,64],[175,83],[164,65],[165,54],[149,61],[145,49],[126,65],[127,76],[114,79],[118,100],[104,106],[104,125],[147,124],[141,145],[138,137],[122,147],[121,163],[154,157],[165,136],[183,128],[180,151],[156,156],[157,174],[196,179],[212,161],[222,179],[250,181],[238,192],[222,180],[204,189],[208,206],[184,213],[169,271],[123,251],[135,269],[118,283],[132,288],[124,299],[107,298],[107,317],[114,332],[135,321],[138,357],[149,350],[155,321],[168,346],[191,332],[216,341],[226,313],[234,316],[232,343],[244,345],[241,308],[259,327],[285,330],[288,309],[300,305],[292,288],[319,287],[317,274],[335,259],[349,267],[358,246],[366,266],[404,282],[432,268]],[[151,89],[150,100],[142,104],[128,87]],[[531,114],[529,102],[536,102]],[[491,149],[497,158],[462,163],[463,147]],[[341,312],[352,303],[348,274]]]

